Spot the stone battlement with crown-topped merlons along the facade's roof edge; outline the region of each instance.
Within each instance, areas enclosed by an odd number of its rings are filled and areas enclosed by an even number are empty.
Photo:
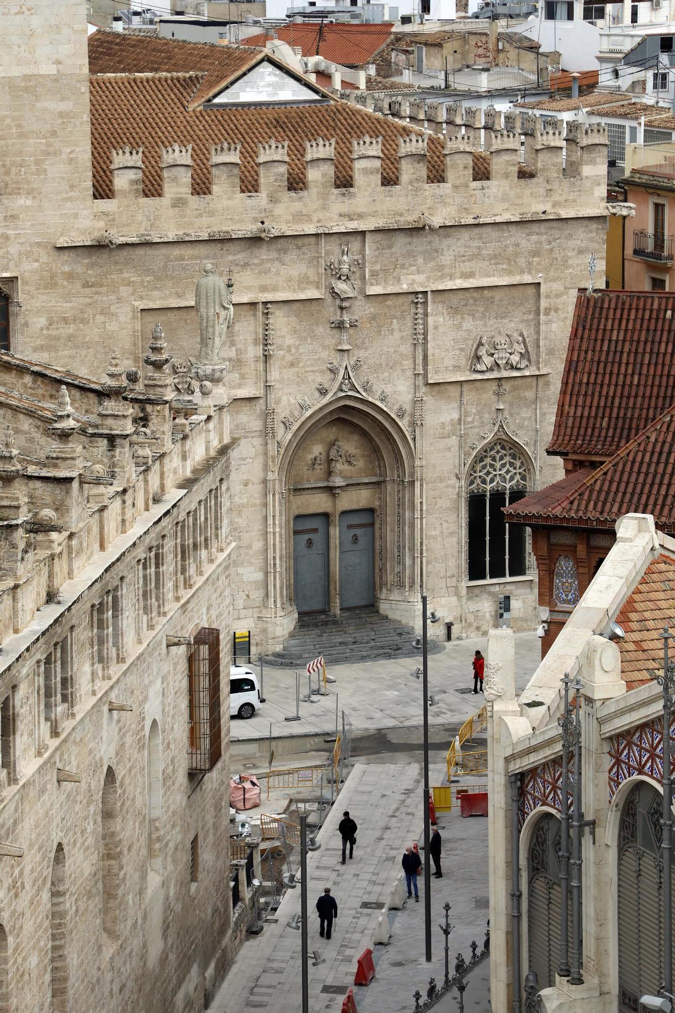
[[[569,124],[564,134],[562,125],[555,120],[542,124],[528,113],[520,113],[515,120],[512,115],[503,119],[492,110],[488,126],[481,128],[475,126],[478,113],[465,110],[462,126],[448,123],[452,134],[441,137],[426,132],[400,138],[393,155],[383,149],[380,137],[354,139],[352,186],[335,185],[333,138],[317,137],[305,142],[304,189],[297,188],[297,161],[291,164],[287,142],[258,144],[256,157],[246,165],[240,143],[212,145],[211,192],[200,196],[193,194],[196,168],[190,146],[171,144],[162,149],[162,193],[154,198],[142,197],[143,177],[150,171],[147,153],[144,161],[141,150],[111,151],[115,197],[111,201],[94,201],[93,218],[100,213],[104,219],[101,233],[103,228],[128,233],[172,232],[184,223],[185,214],[193,227],[212,228],[213,221],[222,219],[224,209],[228,227],[233,230],[249,230],[251,218],[287,231],[356,220],[368,228],[371,222],[392,216],[418,218],[421,202],[428,200],[434,202],[435,218],[441,221],[467,216],[469,211],[471,218],[484,215],[518,219],[531,213],[539,200],[546,201],[549,215],[579,217],[593,214],[596,209],[600,213],[607,158],[606,130],[602,125],[580,130],[577,124]],[[521,135],[525,136],[525,169],[520,162]],[[250,154],[247,157],[250,161]],[[292,169],[294,188],[290,189]],[[255,173],[256,190],[242,191],[242,184],[250,186]],[[470,207],[467,191],[471,194]],[[319,198],[322,214],[317,223]],[[173,210],[176,200],[179,216]],[[72,240],[64,241],[69,244]]]

